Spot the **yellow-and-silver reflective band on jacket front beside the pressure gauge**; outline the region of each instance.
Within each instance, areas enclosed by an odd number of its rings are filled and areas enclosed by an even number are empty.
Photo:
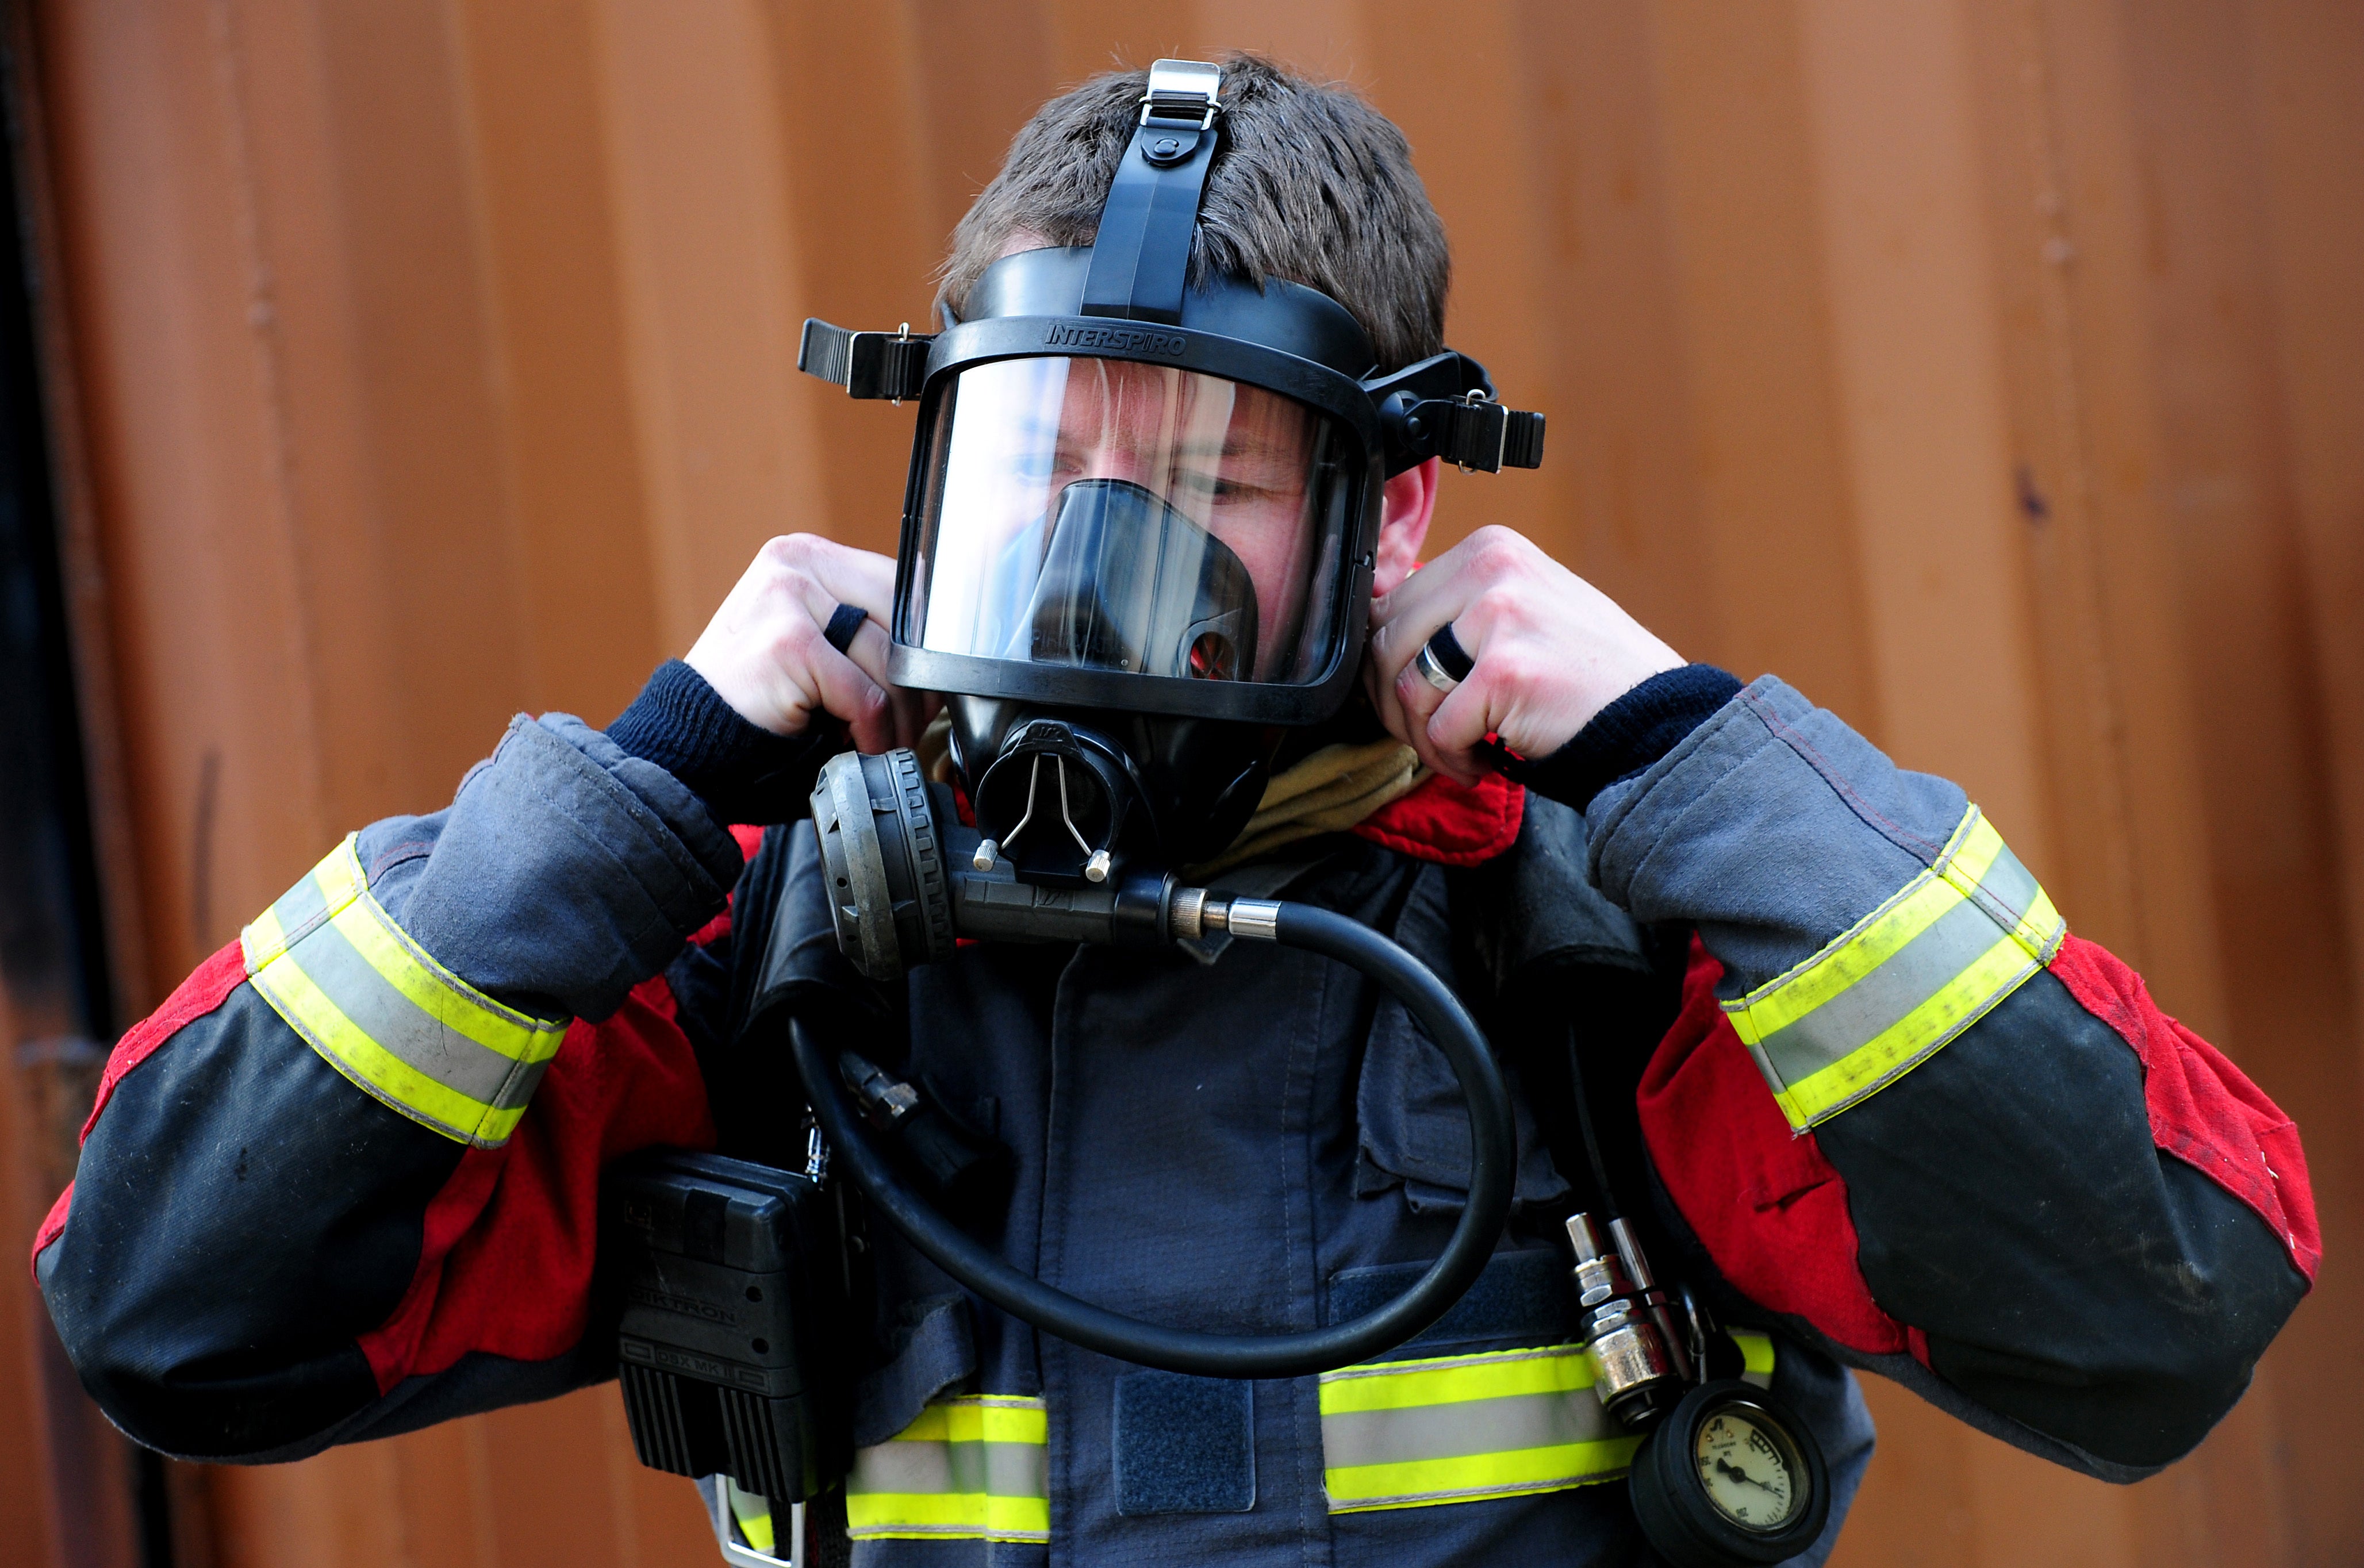
[[[1331,1514],[1558,1492],[1626,1473],[1641,1438],[1593,1398],[1582,1346],[1321,1374]]]

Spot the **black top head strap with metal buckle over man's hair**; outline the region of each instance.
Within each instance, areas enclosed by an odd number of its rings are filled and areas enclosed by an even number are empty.
[[[1189,241],[1215,163],[1220,88],[1222,71],[1196,59],[1149,66],[1139,130],[1099,210],[1083,315],[1168,326],[1182,319]]]

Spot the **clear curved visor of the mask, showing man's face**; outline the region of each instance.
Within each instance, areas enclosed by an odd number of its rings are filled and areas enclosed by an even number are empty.
[[[1317,681],[1350,490],[1331,421],[1265,388],[1000,359],[936,407],[905,636],[1191,681]]]

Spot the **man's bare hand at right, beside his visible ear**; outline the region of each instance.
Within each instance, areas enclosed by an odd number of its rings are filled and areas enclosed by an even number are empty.
[[[1444,624],[1475,660],[1451,695],[1411,662]],[[1388,731],[1473,785],[1487,736],[1541,762],[1634,686],[1681,667],[1608,594],[1508,527],[1480,527],[1371,601],[1362,674]]]

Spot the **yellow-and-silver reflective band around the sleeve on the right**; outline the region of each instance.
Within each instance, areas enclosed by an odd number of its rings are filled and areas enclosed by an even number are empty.
[[[1931,870],[1820,953],[1723,1003],[1799,1133],[1927,1062],[2035,970],[2066,922],[1972,806]]]

